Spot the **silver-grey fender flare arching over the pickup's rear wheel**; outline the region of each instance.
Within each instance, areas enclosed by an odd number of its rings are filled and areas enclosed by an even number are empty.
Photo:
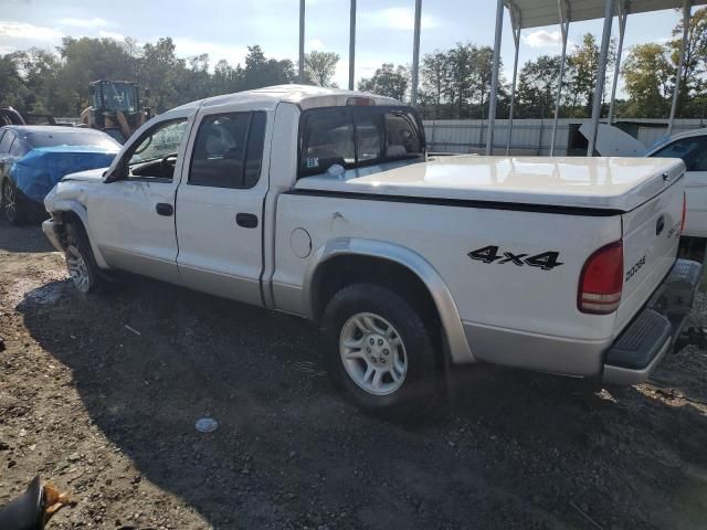
[[[324,268],[321,265],[334,257],[342,255],[388,259],[404,266],[415,274],[426,286],[436,306],[453,362],[475,362],[474,354],[464,333],[456,304],[440,274],[422,255],[394,243],[358,237],[339,237],[317,248],[309,261],[304,280],[305,307],[310,316],[314,317],[316,315],[317,301],[315,292],[319,279],[318,274]]]

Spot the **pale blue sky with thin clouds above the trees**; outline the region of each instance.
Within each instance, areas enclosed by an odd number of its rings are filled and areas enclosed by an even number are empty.
[[[117,7],[119,6],[119,9]],[[348,0],[306,0],[305,51],[340,55],[335,81],[348,85]],[[358,0],[356,80],[370,77],[382,63],[412,63],[414,0]],[[0,0],[0,54],[38,46],[54,50],[64,35],[135,38],[138,43],[171,36],[182,57],[208,53],[243,63],[247,45],[260,44],[275,59],[297,61],[298,0]],[[495,0],[422,0],[421,55],[457,42],[494,42]],[[675,10],[631,15],[624,50],[644,42],[664,42],[679,20]],[[569,47],[591,32],[601,36],[601,21],[570,24]],[[613,34],[618,35],[614,19]],[[519,64],[560,53],[558,26],[521,32]],[[510,80],[514,44],[505,17],[502,57]],[[625,56],[625,54],[624,54]],[[621,88],[620,88],[621,95]]]

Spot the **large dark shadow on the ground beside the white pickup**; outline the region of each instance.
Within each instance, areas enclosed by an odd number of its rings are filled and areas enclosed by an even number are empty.
[[[99,430],[217,528],[704,528],[693,403],[472,367],[402,425],[342,402],[294,318],[148,280],[18,310]]]

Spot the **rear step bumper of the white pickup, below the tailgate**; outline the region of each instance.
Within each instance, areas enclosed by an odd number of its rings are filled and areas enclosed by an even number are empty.
[[[648,378],[680,335],[700,277],[701,264],[675,262],[646,306],[606,351],[605,383],[637,384]]]

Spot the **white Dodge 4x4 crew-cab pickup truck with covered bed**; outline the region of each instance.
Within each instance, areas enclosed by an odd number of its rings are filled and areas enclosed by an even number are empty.
[[[645,380],[700,265],[676,261],[677,159],[428,159],[394,99],[286,85],[145,124],[48,195],[82,293],[112,271],[298,315],[333,381],[410,412],[444,367]]]

